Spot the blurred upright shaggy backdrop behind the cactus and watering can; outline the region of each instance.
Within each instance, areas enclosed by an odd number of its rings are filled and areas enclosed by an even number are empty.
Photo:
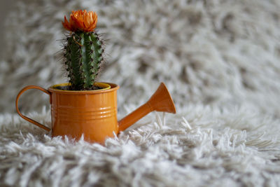
[[[118,106],[134,109],[165,82],[177,108],[190,104],[280,116],[280,2],[249,0],[1,0],[0,112],[15,112],[25,85],[68,81],[64,15],[96,11],[106,64],[99,81],[120,85]],[[6,43],[3,41],[6,39]],[[48,96],[22,95],[25,113]],[[122,109],[120,110],[122,111]]]

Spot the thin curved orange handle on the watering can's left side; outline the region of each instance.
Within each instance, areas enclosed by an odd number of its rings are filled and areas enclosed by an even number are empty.
[[[26,90],[29,90],[29,89],[41,90],[42,92],[45,92],[46,94],[50,95],[50,92],[48,90],[45,90],[45,88],[41,88],[40,86],[37,86],[37,85],[27,85],[25,88],[20,90],[20,92],[18,93],[17,99],[15,100],[15,108],[17,109],[20,117],[24,118],[25,120],[29,121],[30,123],[33,123],[34,125],[37,125],[38,127],[41,127],[44,130],[50,131],[49,127],[45,127],[45,125],[42,125],[41,123],[38,123],[36,120],[32,120],[31,118],[28,118],[27,116],[24,116],[24,115],[22,115],[22,113],[20,113],[20,110],[18,109],[18,100],[20,99],[20,95],[22,95],[23,92],[25,92]],[[50,100],[50,103],[51,103],[51,100]]]

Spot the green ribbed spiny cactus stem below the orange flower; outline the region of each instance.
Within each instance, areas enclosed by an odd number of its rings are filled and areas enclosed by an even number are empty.
[[[71,90],[94,90],[103,52],[96,32],[74,32],[67,38],[64,57]]]

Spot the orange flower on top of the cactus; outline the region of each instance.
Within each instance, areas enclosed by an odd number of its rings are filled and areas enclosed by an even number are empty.
[[[70,20],[64,16],[62,25],[71,32],[93,32],[97,25],[97,13],[92,11],[72,11]]]

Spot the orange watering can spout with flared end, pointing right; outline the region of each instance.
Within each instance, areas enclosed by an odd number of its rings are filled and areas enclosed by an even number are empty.
[[[176,113],[174,102],[164,83],[160,83],[158,90],[155,91],[148,102],[118,121],[119,132],[127,129],[127,127],[130,127],[130,125],[133,125],[151,111]]]

